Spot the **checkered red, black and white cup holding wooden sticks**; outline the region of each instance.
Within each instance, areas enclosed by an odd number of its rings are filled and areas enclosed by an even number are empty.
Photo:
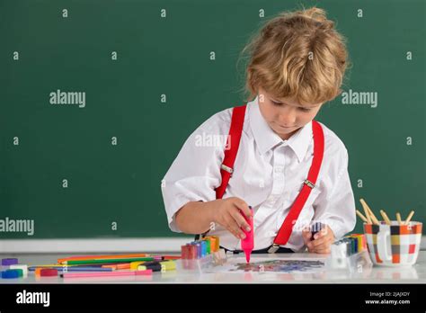
[[[422,241],[422,223],[409,222],[399,225],[365,224],[364,233],[371,260],[381,266],[411,266],[419,255]]]

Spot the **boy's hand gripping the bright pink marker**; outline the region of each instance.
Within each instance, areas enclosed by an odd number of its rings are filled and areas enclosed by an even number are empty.
[[[242,212],[247,217],[252,215],[252,210],[244,200],[236,197],[218,200],[218,207],[213,213],[213,221],[229,230],[238,239],[244,239],[245,234],[241,228],[250,231],[250,226],[245,221]]]

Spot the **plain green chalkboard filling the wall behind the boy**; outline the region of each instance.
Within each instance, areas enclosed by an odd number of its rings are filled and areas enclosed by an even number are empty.
[[[244,102],[247,40],[301,4],[317,3],[0,1],[0,219],[34,219],[33,238],[176,236],[161,179],[202,121]],[[378,94],[376,108],[338,97],[317,116],[349,150],[357,205],[425,221],[425,2],[317,5],[348,39],[343,90]],[[58,89],[85,92],[85,107],[50,104]]]

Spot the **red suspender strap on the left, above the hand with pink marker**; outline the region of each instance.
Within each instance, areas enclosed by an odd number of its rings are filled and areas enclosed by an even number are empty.
[[[245,105],[235,106],[232,111],[231,127],[229,129],[229,136],[226,140],[225,157],[222,165],[220,166],[220,175],[222,176],[222,183],[216,189],[216,199],[222,199],[229,178],[234,172],[234,163],[238,148],[240,147],[241,134],[243,133]]]

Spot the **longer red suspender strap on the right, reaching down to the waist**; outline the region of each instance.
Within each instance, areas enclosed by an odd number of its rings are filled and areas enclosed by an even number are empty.
[[[288,212],[286,219],[281,225],[280,231],[277,237],[275,237],[273,246],[277,247],[280,245],[286,245],[288,238],[293,231],[293,227],[296,224],[297,218],[300,211],[303,209],[307,197],[311,193],[311,190],[315,187],[316,178],[318,177],[321,163],[323,162],[324,156],[324,132],[321,125],[317,121],[312,121],[312,130],[314,133],[314,157],[312,160],[311,168],[307,174],[307,179],[303,184],[302,190],[297,195],[296,201],[294,201],[291,209]]]

